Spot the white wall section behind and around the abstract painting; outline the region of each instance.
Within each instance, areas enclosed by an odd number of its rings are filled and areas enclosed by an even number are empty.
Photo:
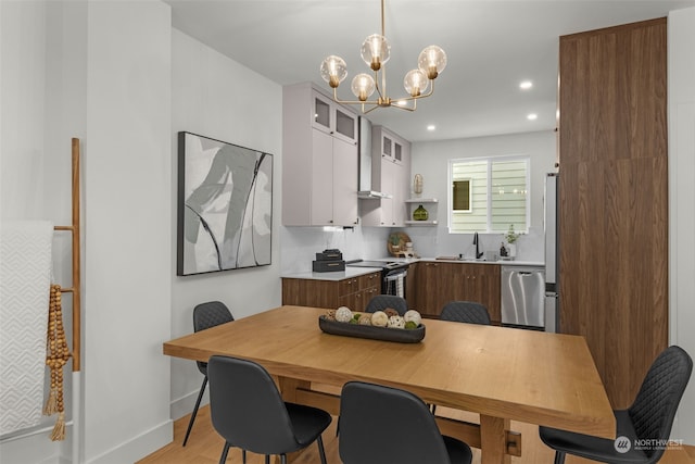
[[[239,65],[179,30],[172,30],[172,153],[176,166],[176,134],[191,131],[271,153],[271,265],[200,276],[176,276],[172,262],[172,337],[193,330],[198,303],[219,300],[235,318],[280,304],[280,213],[282,211],[282,88]],[[176,255],[176,167],[169,191],[173,212],[170,255]],[[188,414],[195,403],[202,375],[195,363],[172,359],[172,417]],[[207,401],[205,399],[205,401]]]

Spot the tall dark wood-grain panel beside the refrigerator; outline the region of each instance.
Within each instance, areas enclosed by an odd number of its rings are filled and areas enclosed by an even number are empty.
[[[631,404],[668,344],[666,18],[560,37],[560,330]]]

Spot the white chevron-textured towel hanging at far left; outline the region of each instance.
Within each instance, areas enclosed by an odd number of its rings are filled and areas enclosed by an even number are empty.
[[[0,227],[0,435],[41,421],[53,225]]]

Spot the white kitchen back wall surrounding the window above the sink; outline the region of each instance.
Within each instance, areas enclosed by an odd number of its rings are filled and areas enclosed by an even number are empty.
[[[437,198],[439,225],[408,227],[407,234],[418,254],[424,256],[471,254],[472,235],[448,234],[448,160],[460,158],[527,154],[531,159],[531,224],[529,234],[517,241],[517,260],[544,261],[543,190],[545,173],[555,172],[555,133],[551,130],[492,137],[416,142],[412,148],[413,175],[422,174],[422,198]],[[433,208],[431,208],[433,210]],[[432,212],[430,212],[432,213]],[[500,250],[501,234],[483,234],[484,250]]]

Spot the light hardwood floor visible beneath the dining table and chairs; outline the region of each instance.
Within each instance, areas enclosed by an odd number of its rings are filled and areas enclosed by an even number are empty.
[[[466,413],[460,413],[454,410],[447,410],[445,407],[437,409],[438,415],[445,415],[451,417],[467,418]],[[190,416],[181,417],[174,424],[174,441],[161,450],[155,451],[137,464],[216,464],[219,462],[219,455],[224,441],[219,435],[215,431],[210,421],[210,407],[203,406],[198,413],[193,430],[188,440],[186,448],[181,447],[184,442],[184,436],[186,435],[186,427]],[[338,439],[336,438],[336,419],[324,432],[324,446],[326,448],[326,456],[329,464],[340,464],[340,457],[338,455]],[[528,424],[511,423],[514,430],[522,434],[522,455],[521,457],[511,457],[513,464],[551,464],[553,463],[553,451],[545,447],[538,435],[538,427]],[[262,464],[264,462],[263,456],[258,454],[249,453],[247,456],[249,464]],[[314,464],[318,463],[318,450],[316,444],[312,444],[305,452],[301,454],[298,464]],[[591,463],[582,459],[568,456],[567,464],[583,464]],[[227,457],[228,464],[241,463],[241,451],[239,449],[231,449]],[[693,464],[695,463],[695,447],[682,447],[667,451],[665,457],[660,461],[661,464]],[[395,464],[395,463],[384,463]],[[424,463],[426,464],[426,463]],[[480,450],[473,449],[473,464],[480,464]]]

